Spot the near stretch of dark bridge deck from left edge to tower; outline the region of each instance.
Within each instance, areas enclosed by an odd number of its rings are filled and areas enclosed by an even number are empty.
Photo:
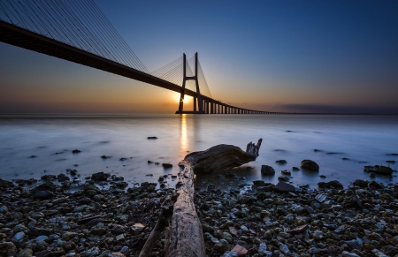
[[[181,87],[171,82],[159,79],[145,72],[137,71],[123,64],[118,64],[103,57],[77,49],[63,42],[57,42],[41,34],[28,31],[19,26],[13,26],[0,20],[0,42],[8,43],[23,49],[33,50],[51,57],[57,57],[76,64],[83,64],[104,72],[111,72],[120,76],[136,79],[157,87],[163,87],[180,93]],[[185,94],[194,96],[196,93],[185,89]]]

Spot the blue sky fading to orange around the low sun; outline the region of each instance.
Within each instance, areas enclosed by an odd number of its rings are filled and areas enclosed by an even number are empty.
[[[198,52],[252,110],[398,114],[397,1],[95,0],[149,72]],[[0,42],[0,113],[173,113],[179,94]],[[187,98],[185,110],[192,110]]]

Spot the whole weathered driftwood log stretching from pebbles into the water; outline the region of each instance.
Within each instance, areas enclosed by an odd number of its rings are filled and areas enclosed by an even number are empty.
[[[174,200],[169,201],[165,212],[159,215],[155,229],[149,235],[140,257],[149,256],[152,247],[163,228],[165,232],[166,257],[204,257],[206,256],[202,224],[195,211],[194,178],[195,173],[217,172],[256,160],[262,139],[257,144],[250,142],[246,152],[232,145],[218,145],[201,152],[185,156],[179,165],[184,170],[179,173]],[[170,202],[174,202],[173,208]],[[172,210],[172,211],[171,211]]]

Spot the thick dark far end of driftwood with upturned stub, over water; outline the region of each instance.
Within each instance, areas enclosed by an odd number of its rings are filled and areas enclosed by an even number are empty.
[[[196,174],[239,167],[242,164],[256,161],[262,141],[262,139],[259,139],[257,144],[249,142],[246,152],[240,147],[232,145],[210,147],[205,151],[193,152],[185,156],[181,164],[189,163]]]

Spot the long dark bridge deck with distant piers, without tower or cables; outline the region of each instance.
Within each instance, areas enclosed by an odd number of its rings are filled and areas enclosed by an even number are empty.
[[[225,113],[225,114],[243,114],[243,113],[267,113],[265,111],[248,110],[235,107],[233,105],[219,102],[205,95],[198,95],[197,92],[188,88],[183,88],[179,85],[171,83],[165,79],[159,79],[149,73],[141,72],[123,64],[116,63],[104,57],[99,57],[88,51],[75,48],[71,45],[65,44],[64,42],[58,42],[49,37],[43,36],[29,31],[25,28],[11,25],[7,22],[0,20],[0,42],[11,44],[23,49],[33,50],[48,56],[57,57],[64,59],[76,64],[86,65],[104,72],[111,72],[120,76],[139,80],[157,87],[163,87],[165,89],[172,90],[183,95],[189,95],[194,97],[202,98],[203,105],[199,110],[193,111],[177,111],[177,113],[199,113],[199,114],[213,114],[213,113]],[[202,109],[202,110],[201,110]],[[222,109],[222,110],[221,110]]]

